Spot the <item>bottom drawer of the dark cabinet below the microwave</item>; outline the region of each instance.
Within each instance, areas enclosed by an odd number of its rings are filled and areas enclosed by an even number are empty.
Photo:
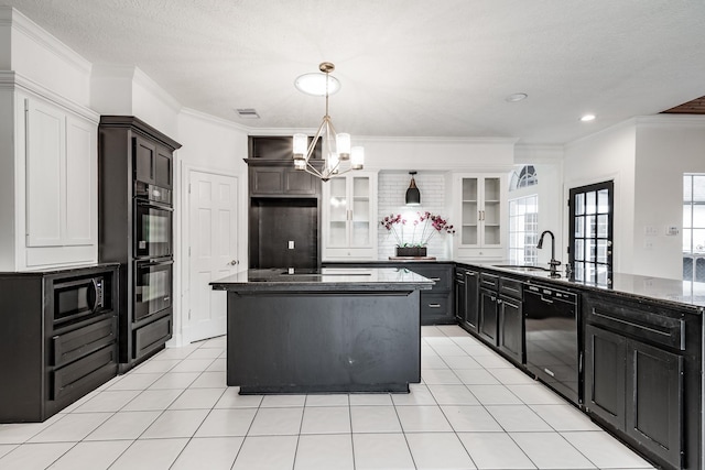
[[[85,395],[118,373],[117,347],[106,346],[52,372],[51,400]]]

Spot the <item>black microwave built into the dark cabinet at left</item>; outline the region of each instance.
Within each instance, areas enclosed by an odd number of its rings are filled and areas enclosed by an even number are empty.
[[[69,321],[109,308],[109,296],[104,276],[57,282],[54,284],[54,321]]]

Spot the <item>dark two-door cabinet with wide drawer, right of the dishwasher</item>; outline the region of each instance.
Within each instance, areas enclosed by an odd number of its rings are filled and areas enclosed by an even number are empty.
[[[698,468],[697,425],[684,416],[698,374],[686,368],[686,320],[657,305],[587,300],[585,405],[666,468]],[[696,341],[697,342],[697,341]],[[695,463],[695,464],[694,464]]]

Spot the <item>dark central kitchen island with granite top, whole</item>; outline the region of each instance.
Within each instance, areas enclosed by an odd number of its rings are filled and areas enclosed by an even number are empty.
[[[241,394],[409,392],[420,289],[406,269],[248,270],[227,291],[227,384]]]

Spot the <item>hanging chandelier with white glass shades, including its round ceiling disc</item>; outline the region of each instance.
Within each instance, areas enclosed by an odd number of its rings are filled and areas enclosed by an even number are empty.
[[[344,175],[351,170],[361,170],[365,164],[365,149],[350,147],[350,134],[337,133],[328,116],[328,95],[340,87],[338,80],[329,74],[335,65],[324,62],[318,66],[322,72],[305,74],[296,78],[295,86],[308,95],[322,96],[325,91],[326,113],[311,143],[306,134],[294,134],[294,168],[310,173],[324,182]],[[325,83],[322,83],[325,80]],[[316,144],[322,140],[323,160],[313,159]],[[313,160],[313,161],[312,161]]]

